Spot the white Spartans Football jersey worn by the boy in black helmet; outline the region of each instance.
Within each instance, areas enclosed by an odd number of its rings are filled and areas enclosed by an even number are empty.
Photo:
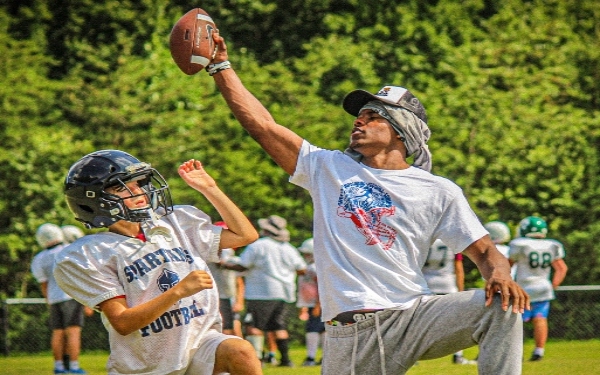
[[[176,206],[156,223],[142,224],[147,241],[111,232],[78,239],[56,258],[54,275],[77,301],[96,307],[125,296],[137,306],[167,291],[193,270],[218,261],[221,227],[191,206]],[[221,331],[216,288],[175,303],[136,332],[120,335],[104,315],[109,332],[109,374],[183,374],[203,334]]]

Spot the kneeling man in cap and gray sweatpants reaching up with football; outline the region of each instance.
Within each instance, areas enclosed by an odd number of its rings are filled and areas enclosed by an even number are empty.
[[[218,32],[214,39],[218,51],[207,68],[219,92],[290,181],[312,197],[327,322],[322,373],[404,374],[420,359],[474,345],[481,374],[521,373],[520,312],[529,297],[462,190],[430,173],[430,131],[419,100],[396,86],[376,95],[353,91],[343,104],[355,117],[348,149],[321,149],[275,122],[231,68]],[[473,260],[485,290],[431,292],[421,268],[437,238]]]

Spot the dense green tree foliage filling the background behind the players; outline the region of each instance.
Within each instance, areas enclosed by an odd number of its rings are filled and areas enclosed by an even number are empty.
[[[38,293],[37,226],[74,223],[68,167],[117,148],[151,162],[178,203],[216,216],[177,177],[189,158],[253,220],[310,236],[308,195],[251,140],[168,34],[196,2],[5,0],[0,5],[0,296]],[[232,63],[277,121],[345,147],[355,88],[408,87],[433,132],[434,172],[482,221],[547,219],[567,284],[600,280],[600,9],[593,0],[207,0]],[[215,219],[217,219],[215,217]],[[475,271],[471,280],[476,280]]]

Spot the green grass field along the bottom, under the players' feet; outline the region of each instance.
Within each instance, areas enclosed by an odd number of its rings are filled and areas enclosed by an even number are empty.
[[[525,342],[525,358],[529,358],[533,342]],[[293,347],[294,368],[278,368],[267,365],[265,375],[319,375],[320,367],[300,367],[304,359],[304,348]],[[477,349],[465,350],[467,358],[474,358]],[[89,375],[106,374],[106,353],[84,353],[80,362]],[[45,370],[47,369],[47,370]],[[0,373],[3,375],[51,374],[50,354],[35,356],[0,357]],[[451,358],[421,361],[408,372],[408,375],[471,375],[477,374],[475,365],[454,365]],[[600,340],[590,341],[550,341],[546,346],[546,356],[540,362],[523,364],[523,375],[588,375],[600,374]],[[362,374],[361,374],[362,375]],[[370,374],[369,374],[370,375]],[[493,375],[493,374],[490,374]]]

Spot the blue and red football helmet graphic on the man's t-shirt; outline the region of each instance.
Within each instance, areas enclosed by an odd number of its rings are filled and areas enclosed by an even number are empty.
[[[381,219],[395,212],[389,194],[376,184],[350,182],[341,188],[337,214],[352,220],[367,245],[380,243],[384,250],[392,246],[396,232]]]

